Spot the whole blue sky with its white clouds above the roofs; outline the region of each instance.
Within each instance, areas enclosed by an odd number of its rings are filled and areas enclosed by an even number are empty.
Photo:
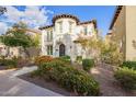
[[[48,25],[55,14],[69,13],[81,22],[95,19],[103,35],[111,24],[115,7],[113,5],[47,5],[47,7],[7,7],[8,12],[0,16],[0,33],[5,32],[13,23],[26,22],[31,27]]]

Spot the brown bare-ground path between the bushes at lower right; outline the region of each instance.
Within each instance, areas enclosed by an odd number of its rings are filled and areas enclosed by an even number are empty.
[[[92,68],[92,76],[100,83],[101,95],[103,97],[136,97],[136,93],[124,91],[114,79],[113,69],[109,65]]]

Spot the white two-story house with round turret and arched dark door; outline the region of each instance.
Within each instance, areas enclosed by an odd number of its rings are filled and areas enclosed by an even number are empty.
[[[53,24],[42,30],[42,55],[59,57],[68,55],[71,60],[77,56],[84,56],[80,44],[73,43],[79,35],[95,35],[97,21],[80,22],[79,19],[71,14],[59,14],[53,18]]]

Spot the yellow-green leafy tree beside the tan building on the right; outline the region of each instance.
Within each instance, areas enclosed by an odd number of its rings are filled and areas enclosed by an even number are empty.
[[[109,42],[103,44],[101,48],[102,63],[111,65],[121,65],[123,63],[123,53],[120,50],[118,44],[115,42]]]

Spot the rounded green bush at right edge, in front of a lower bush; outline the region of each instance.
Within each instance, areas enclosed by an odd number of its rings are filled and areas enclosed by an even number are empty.
[[[127,67],[120,68],[115,71],[114,77],[125,89],[136,90],[136,70]]]

